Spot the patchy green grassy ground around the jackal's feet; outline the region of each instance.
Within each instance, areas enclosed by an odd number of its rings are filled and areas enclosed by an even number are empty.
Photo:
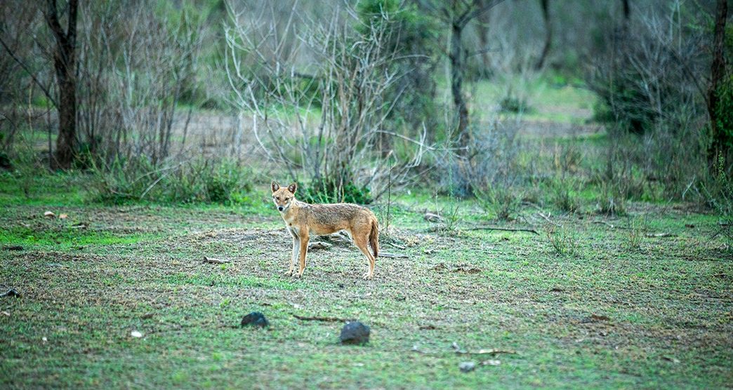
[[[103,206],[84,188],[79,175],[0,177],[0,287],[21,293],[0,298],[4,388],[733,383],[733,259],[711,239],[717,219],[682,204],[553,211],[559,227],[527,207],[530,223],[507,225],[535,235],[468,230],[485,221],[463,201],[457,229],[434,232],[424,211],[454,202],[402,195],[381,245],[409,258],[377,259],[367,282],[338,243],[284,277],[290,239],[265,192],[246,207]],[[240,329],[254,310],[269,329]],[[293,315],[357,318],[372,340],[342,346],[342,323]]]

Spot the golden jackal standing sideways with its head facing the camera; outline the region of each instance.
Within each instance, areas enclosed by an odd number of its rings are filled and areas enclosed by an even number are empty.
[[[275,206],[285,221],[287,231],[292,234],[292,260],[287,274],[292,275],[295,271],[295,259],[299,258],[300,269],[295,276],[303,275],[311,234],[323,236],[346,230],[356,247],[367,257],[369,268],[364,279],[372,279],[379,251],[379,226],[372,210],[352,203],[308,204],[295,199],[297,189],[298,185],[295,183],[288,187],[280,187],[275,181],[272,183]],[[373,255],[367,244],[372,245]]]

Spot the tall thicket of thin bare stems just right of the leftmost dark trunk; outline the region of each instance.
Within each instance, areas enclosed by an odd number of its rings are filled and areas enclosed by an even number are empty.
[[[143,155],[152,166],[171,152],[183,87],[196,75],[196,20],[158,18],[145,2],[88,3],[80,34],[79,127],[87,149],[109,162]]]

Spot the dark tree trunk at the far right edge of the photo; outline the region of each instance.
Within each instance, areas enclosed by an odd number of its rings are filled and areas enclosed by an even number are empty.
[[[715,10],[715,34],[712,38],[712,65],[710,66],[710,87],[707,90],[707,113],[710,116],[710,130],[712,143],[707,151],[707,160],[710,170],[715,173],[716,160],[719,156],[726,157],[726,135],[718,123],[718,105],[720,96],[718,90],[721,80],[725,76],[726,62],[723,53],[725,45],[726,19],[728,18],[728,1],[718,0]],[[723,162],[725,163],[725,162]]]

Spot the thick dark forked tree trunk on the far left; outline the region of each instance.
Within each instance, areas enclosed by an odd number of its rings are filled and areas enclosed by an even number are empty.
[[[76,19],[78,0],[67,4],[68,27],[62,29],[56,0],[47,0],[46,22],[56,40],[54,69],[59,84],[59,137],[56,138],[56,164],[70,168],[76,154]]]

